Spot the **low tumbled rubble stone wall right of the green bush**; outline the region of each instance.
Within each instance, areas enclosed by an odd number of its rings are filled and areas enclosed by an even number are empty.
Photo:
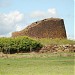
[[[46,52],[75,52],[74,45],[46,45],[41,50],[40,53]]]

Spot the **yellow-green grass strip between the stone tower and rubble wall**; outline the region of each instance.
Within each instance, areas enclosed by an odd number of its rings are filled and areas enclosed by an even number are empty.
[[[41,42],[43,45],[49,45],[49,44],[57,44],[57,45],[64,45],[64,44],[75,44],[75,40],[68,40],[68,39],[49,39],[49,38],[42,38],[37,39],[39,42]]]

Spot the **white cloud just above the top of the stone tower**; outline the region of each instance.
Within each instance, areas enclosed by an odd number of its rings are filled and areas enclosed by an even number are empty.
[[[31,18],[48,18],[57,17],[57,10],[55,8],[50,8],[47,11],[34,11],[30,14]]]

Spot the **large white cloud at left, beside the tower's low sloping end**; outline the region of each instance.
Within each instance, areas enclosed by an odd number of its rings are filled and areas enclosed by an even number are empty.
[[[8,14],[0,13],[0,35],[8,35],[9,33],[16,31],[17,26],[24,20],[23,16],[24,15],[19,11],[10,12]]]

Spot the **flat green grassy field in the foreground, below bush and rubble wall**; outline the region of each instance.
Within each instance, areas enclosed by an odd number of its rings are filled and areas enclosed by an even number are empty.
[[[74,53],[24,53],[0,57],[0,75],[74,75]]]

